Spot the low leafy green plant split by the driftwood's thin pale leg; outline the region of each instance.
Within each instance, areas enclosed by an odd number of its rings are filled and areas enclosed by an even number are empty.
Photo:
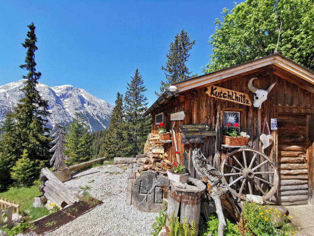
[[[215,216],[210,216],[207,225],[208,225],[207,233],[204,233],[204,235],[218,236],[219,219],[217,219]],[[237,225],[231,223],[228,219],[226,219],[224,236],[241,236]]]

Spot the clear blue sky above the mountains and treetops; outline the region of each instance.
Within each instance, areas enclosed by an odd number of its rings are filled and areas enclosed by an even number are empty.
[[[114,104],[138,68],[149,105],[165,79],[169,44],[183,28],[196,42],[187,67],[202,73],[215,18],[233,1],[0,1],[0,85],[26,72],[24,42],[32,21],[38,38],[36,69],[49,86],[70,84]]]

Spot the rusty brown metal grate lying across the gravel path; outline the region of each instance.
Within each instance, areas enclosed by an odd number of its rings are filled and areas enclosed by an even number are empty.
[[[101,201],[97,205],[100,204],[102,204]],[[81,216],[92,210],[95,206],[89,205],[88,202],[79,201],[71,206],[68,206],[67,208],[35,221],[34,226],[26,228],[23,234],[35,236],[54,231],[62,225],[75,220],[78,216]]]

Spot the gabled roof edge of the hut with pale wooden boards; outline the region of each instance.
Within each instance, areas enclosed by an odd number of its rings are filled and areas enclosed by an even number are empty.
[[[268,65],[272,66],[273,68],[278,68],[278,70],[281,70],[284,73],[287,72],[286,76],[287,78],[290,78],[289,74],[300,78],[301,80],[304,81],[303,88],[314,93],[314,72],[284,57],[280,53],[275,53],[266,57],[262,57],[239,65],[234,65],[222,70],[217,70],[205,75],[193,77],[187,80],[171,84],[177,87],[176,93],[173,95],[168,91],[164,92],[156,100],[156,102],[154,102],[154,104],[143,113],[143,116],[149,115],[153,110],[158,108],[160,105],[162,105],[166,101],[171,100],[173,96],[177,96],[180,93],[184,93],[187,90],[198,87],[205,87],[209,84],[218,83],[219,81],[225,81],[228,80],[228,77],[234,77],[238,75],[240,76],[242,74],[249,73],[252,70],[256,70]],[[281,75],[282,73],[280,73],[280,76]],[[298,85],[302,86],[302,83],[298,83]]]

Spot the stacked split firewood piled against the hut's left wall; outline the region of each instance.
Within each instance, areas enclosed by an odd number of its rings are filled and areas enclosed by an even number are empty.
[[[158,134],[150,133],[144,145],[144,154],[138,155],[137,164],[140,174],[142,171],[156,171],[166,174],[171,169],[171,162],[168,160],[168,154],[165,153],[163,143],[159,140]]]

